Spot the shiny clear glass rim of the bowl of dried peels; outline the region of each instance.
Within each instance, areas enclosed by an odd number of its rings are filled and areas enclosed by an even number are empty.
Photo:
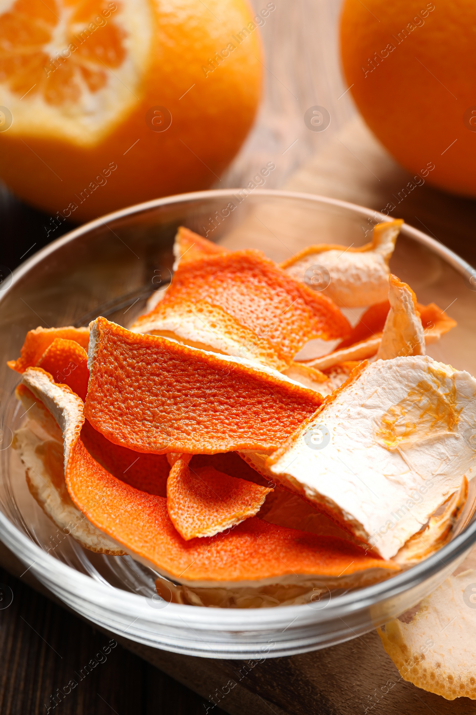
[[[76,240],[101,227],[106,222],[111,222],[124,217],[131,217],[135,214],[148,212],[161,206],[168,204],[178,204],[181,202],[202,201],[203,199],[218,199],[232,198],[233,194],[240,189],[217,189],[212,191],[190,192],[188,194],[176,194],[170,197],[161,199],[153,199],[152,201],[142,204],[135,204],[131,207],[126,207],[119,211],[100,217],[96,220],[88,222],[66,235],[51,242],[46,247],[42,248],[21,264],[13,271],[13,280],[11,285],[4,290],[0,296],[1,301],[8,294],[11,288],[24,277],[36,264],[43,261],[50,254],[55,252],[59,247],[66,245],[68,242]],[[371,218],[375,222],[390,221],[390,217],[383,215],[375,209],[368,209],[350,202],[345,202],[340,199],[320,196],[318,194],[306,194],[301,192],[281,191],[277,189],[254,189],[253,197],[270,197],[283,199],[302,199],[307,202],[316,204],[329,204],[335,207],[348,209],[365,218]],[[449,263],[457,272],[462,275],[473,275],[473,267],[458,256],[455,252],[442,245],[440,242],[427,236],[420,230],[404,224],[401,230],[402,235],[410,237],[416,242],[424,245],[432,252],[439,255],[442,260]],[[193,611],[193,621],[198,626],[201,624],[203,628],[211,631],[221,631],[223,628],[231,628],[240,631],[255,631],[269,628],[275,630],[281,625],[288,623],[293,617],[300,616],[300,626],[305,626],[306,623],[316,623],[318,621],[328,621],[332,618],[340,618],[345,614],[353,611],[360,611],[370,606],[375,606],[383,599],[389,599],[397,596],[399,593],[410,590],[417,586],[422,581],[435,575],[442,568],[448,566],[452,561],[462,556],[476,542],[476,521],[470,524],[465,531],[456,536],[450,543],[443,546],[437,553],[422,561],[422,563],[413,566],[408,571],[404,571],[397,576],[393,576],[389,581],[377,583],[374,586],[368,586],[360,589],[360,591],[348,593],[344,596],[336,596],[332,598],[326,608],[321,610],[313,610],[305,605],[287,606],[286,608],[248,608],[248,609],[233,609],[233,608],[198,608],[197,606],[188,606],[178,603],[169,603],[167,608],[161,610],[153,610],[145,603],[143,596],[138,596],[135,593],[120,591],[119,589],[104,586],[101,583],[93,581],[92,578],[86,576],[73,568],[66,566],[56,558],[49,556],[39,546],[26,537],[12,524],[4,513],[0,512],[0,538],[11,551],[31,568],[39,581],[53,590],[60,598],[62,592],[69,593],[74,598],[74,594],[83,594],[88,592],[90,600],[97,603],[98,606],[107,607],[109,611],[116,613],[128,613],[131,618],[136,616],[143,618],[145,621],[156,621],[180,627],[184,625],[181,616],[191,616]],[[29,561],[31,560],[31,563]],[[56,588],[52,585],[56,584]],[[60,585],[61,584],[61,585]],[[358,597],[356,597],[358,594]],[[80,597],[81,598],[81,597]],[[64,598],[66,601],[71,601],[70,598]],[[162,616],[163,614],[163,616]],[[88,616],[93,619],[93,616]],[[100,621],[98,621],[100,622]],[[129,635],[126,633],[126,635]],[[138,634],[130,633],[134,640],[141,641],[142,638]],[[163,647],[163,646],[161,646]],[[308,650],[308,649],[305,649]],[[272,655],[272,654],[270,654]],[[212,656],[213,657],[213,656]],[[229,657],[229,656],[228,656]]]

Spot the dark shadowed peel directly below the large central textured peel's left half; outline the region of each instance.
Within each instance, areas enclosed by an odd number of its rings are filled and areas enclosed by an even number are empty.
[[[81,429],[81,440],[91,456],[114,477],[148,494],[167,496],[170,467],[166,455],[143,454],[115,445],[88,420]]]

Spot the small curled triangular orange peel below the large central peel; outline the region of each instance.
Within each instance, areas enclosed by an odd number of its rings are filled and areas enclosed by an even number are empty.
[[[213,467],[191,469],[178,459],[167,480],[168,516],[186,541],[215,536],[255,516],[270,491]]]

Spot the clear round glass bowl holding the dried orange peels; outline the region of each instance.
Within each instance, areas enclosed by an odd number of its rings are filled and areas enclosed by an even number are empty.
[[[0,284],[0,537],[36,578],[109,631],[177,653],[246,659],[289,656],[338,644],[415,606],[461,563],[476,541],[474,490],[452,540],[422,563],[367,588],[278,608],[200,608],[156,596],[156,573],[130,556],[103,556],[60,533],[30,495],[11,448],[24,418],[14,398],[27,330],[87,325],[104,315],[130,325],[171,278],[172,245],[184,225],[229,248],[259,248],[273,260],[310,243],[361,245],[378,212],[326,197],[236,189],[158,199],[88,223],[39,251]],[[404,225],[390,264],[420,302],[451,306],[458,325],[429,354],[476,374],[476,272]],[[476,480],[475,480],[476,481]],[[154,595],[155,594],[155,595]]]

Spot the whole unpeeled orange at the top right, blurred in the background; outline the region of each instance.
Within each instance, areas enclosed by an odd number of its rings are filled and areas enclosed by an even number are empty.
[[[350,92],[395,159],[476,196],[474,0],[345,0],[340,46]]]

